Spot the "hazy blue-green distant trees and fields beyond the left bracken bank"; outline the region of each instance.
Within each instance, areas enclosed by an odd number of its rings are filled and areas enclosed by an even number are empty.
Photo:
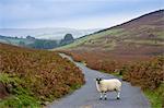
[[[74,38],[72,34],[66,34],[63,39],[61,40],[50,40],[50,39],[37,39],[33,36],[26,36],[26,38],[19,38],[19,37],[10,37],[10,36],[1,36],[0,35],[0,41],[11,45],[17,45],[28,48],[35,48],[35,49],[52,49],[56,47],[65,46],[67,44],[73,43]],[[15,43],[13,43],[15,41]]]

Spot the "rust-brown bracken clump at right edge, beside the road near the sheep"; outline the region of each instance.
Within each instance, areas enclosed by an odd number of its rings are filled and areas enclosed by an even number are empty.
[[[130,81],[142,88],[155,89],[164,81],[164,58],[157,57],[151,61],[137,62],[127,68],[124,80]]]

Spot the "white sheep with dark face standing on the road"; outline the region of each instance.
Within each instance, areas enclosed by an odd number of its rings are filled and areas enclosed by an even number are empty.
[[[117,93],[117,99],[119,99],[121,82],[117,79],[112,79],[112,80],[96,79],[96,88],[101,94],[99,99],[103,99],[103,95],[105,97],[104,99],[107,99],[106,93],[114,92],[114,91]]]

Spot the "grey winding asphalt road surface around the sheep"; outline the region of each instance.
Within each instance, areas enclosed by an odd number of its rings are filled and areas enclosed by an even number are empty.
[[[61,55],[71,60],[70,57]],[[72,60],[71,60],[72,61]],[[72,61],[74,62],[74,61]],[[95,79],[113,79],[115,76],[92,70],[82,63],[74,62],[84,73],[86,83],[72,94],[55,100],[48,108],[150,108],[149,100],[143,96],[141,89],[122,82],[120,99],[116,99],[116,93],[107,93],[107,100],[99,100],[96,91]]]

